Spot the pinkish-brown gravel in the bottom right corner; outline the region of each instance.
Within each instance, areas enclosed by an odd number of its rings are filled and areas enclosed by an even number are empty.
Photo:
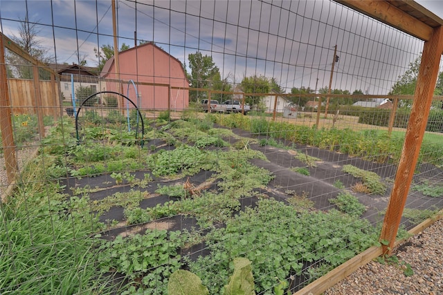
[[[443,220],[408,238],[392,255],[398,262],[371,261],[324,294],[443,294]],[[412,276],[404,274],[407,264]]]

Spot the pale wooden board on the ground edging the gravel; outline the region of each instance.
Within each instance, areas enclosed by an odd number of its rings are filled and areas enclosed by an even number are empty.
[[[420,223],[413,229],[410,229],[408,233],[411,234],[412,236],[415,236],[420,231],[423,231],[427,227],[430,227],[431,225],[433,225],[433,223],[442,218],[443,218],[443,210],[440,210],[435,217],[424,220],[422,223]],[[408,238],[397,240],[394,244],[394,247],[397,247],[405,240],[408,240]],[[335,269],[332,269],[332,271],[325,274],[325,276],[322,276],[321,278],[314,280],[314,282],[300,289],[298,292],[293,293],[293,295],[322,294],[327,289],[329,289],[329,287],[336,285],[336,283],[340,282],[341,280],[343,280],[344,278],[355,272],[356,269],[359,269],[359,267],[369,263],[370,260],[377,258],[381,255],[383,255],[383,249],[381,246],[370,247],[369,249],[366,249],[365,251],[361,252],[361,254],[351,258],[350,260],[347,260],[345,263],[339,265]]]

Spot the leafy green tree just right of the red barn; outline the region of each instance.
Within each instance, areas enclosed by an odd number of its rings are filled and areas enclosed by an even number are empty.
[[[214,84],[221,82],[220,71],[213,57],[202,55],[201,53],[191,53],[188,55],[189,68],[191,73],[187,73],[189,85],[192,88],[213,88]],[[190,91],[190,98],[197,101],[199,97],[206,97],[206,91]]]

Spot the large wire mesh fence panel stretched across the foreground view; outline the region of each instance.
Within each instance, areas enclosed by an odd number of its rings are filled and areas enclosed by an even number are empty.
[[[332,1],[20,3],[1,294],[293,293],[386,243],[423,41]],[[439,95],[398,238],[443,208]]]

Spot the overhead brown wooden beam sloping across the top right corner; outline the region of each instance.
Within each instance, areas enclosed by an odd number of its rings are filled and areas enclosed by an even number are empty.
[[[378,19],[379,21],[397,28],[409,35],[413,35],[424,41],[431,39],[433,28],[419,21],[408,13],[399,10],[386,1],[380,0],[335,0],[344,6],[357,10],[364,15]],[[441,54],[442,52],[440,52]]]

